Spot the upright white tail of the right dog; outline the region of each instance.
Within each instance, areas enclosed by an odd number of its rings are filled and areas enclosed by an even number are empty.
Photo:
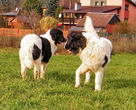
[[[85,21],[85,24],[84,24],[84,30],[86,32],[94,33],[94,34],[97,35],[97,33],[94,29],[94,26],[93,26],[92,19],[89,16],[86,16],[86,21]]]

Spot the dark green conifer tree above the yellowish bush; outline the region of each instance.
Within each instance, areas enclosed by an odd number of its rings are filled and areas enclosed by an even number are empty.
[[[45,14],[47,16],[55,17],[56,10],[59,7],[59,0],[49,0],[46,6],[47,6],[47,11]]]

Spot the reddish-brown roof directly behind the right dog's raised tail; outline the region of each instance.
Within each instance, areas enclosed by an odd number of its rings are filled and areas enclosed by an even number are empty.
[[[119,22],[119,18],[114,13],[87,13],[86,16],[90,16],[92,18],[93,24],[95,28],[101,27],[105,28],[108,24],[115,24]],[[83,27],[86,16],[83,19],[79,20],[77,23],[78,27]]]

